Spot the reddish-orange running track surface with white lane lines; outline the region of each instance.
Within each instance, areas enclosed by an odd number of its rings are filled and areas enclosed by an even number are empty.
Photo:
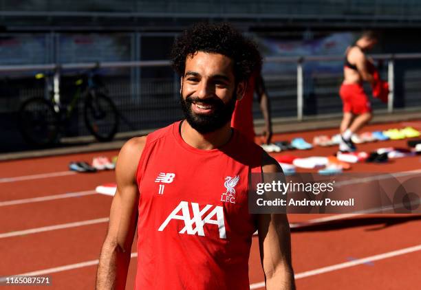
[[[421,129],[421,122],[412,122]],[[380,124],[370,130],[402,127],[405,124]],[[336,130],[311,131],[275,136],[276,140],[291,140],[301,136],[311,141],[314,135]],[[406,147],[407,140],[363,144],[360,150],[374,150],[387,146]],[[336,147],[314,148],[308,151],[290,151],[298,156],[327,156]],[[85,192],[100,183],[114,181],[114,172],[74,174],[44,177],[23,181],[1,181],[4,177],[21,177],[50,172],[65,172],[74,160],[90,161],[96,155],[112,157],[117,151],[6,161],[0,164],[0,276],[25,274],[32,271],[73,265],[70,269],[56,269],[49,275],[49,289],[94,289],[96,259],[105,238],[111,197],[87,192],[79,197],[34,201],[34,197]],[[352,172],[401,172],[421,169],[420,157],[395,159],[389,164],[355,164]],[[30,199],[26,203],[5,205],[4,201]],[[316,214],[292,214],[290,223],[325,217]],[[94,220],[94,221],[93,221]],[[73,225],[60,229],[45,229],[34,233],[15,233],[21,230],[92,221],[91,224]],[[393,252],[421,244],[421,216],[417,215],[359,215],[328,223],[316,223],[292,229],[292,260],[295,274],[331,265],[340,265],[378,254]],[[133,243],[136,245],[136,243]],[[132,252],[136,252],[133,246]],[[89,262],[89,263],[85,263]],[[85,263],[75,267],[75,264]],[[250,252],[250,284],[263,282],[257,237],[253,238]],[[335,269],[322,274],[298,278],[298,289],[420,289],[421,251],[381,258],[373,262]],[[136,258],[131,259],[127,289],[133,288]],[[234,277],[233,277],[234,278]],[[27,289],[11,287],[10,289]],[[44,289],[32,287],[31,289]]]

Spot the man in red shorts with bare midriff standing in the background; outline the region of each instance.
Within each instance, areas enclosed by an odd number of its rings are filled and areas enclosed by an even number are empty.
[[[339,94],[343,101],[343,120],[341,122],[342,140],[339,150],[352,152],[356,150],[351,137],[371,120],[371,104],[363,89],[363,81],[374,85],[370,67],[372,60],[365,56],[376,45],[374,32],[364,32],[356,44],[348,47],[345,52],[343,68],[344,80]]]

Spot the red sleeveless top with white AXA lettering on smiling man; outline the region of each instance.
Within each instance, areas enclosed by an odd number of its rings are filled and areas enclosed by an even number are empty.
[[[199,150],[179,127],[149,134],[140,157],[135,289],[249,289],[248,179],[262,150],[235,130],[225,146]]]

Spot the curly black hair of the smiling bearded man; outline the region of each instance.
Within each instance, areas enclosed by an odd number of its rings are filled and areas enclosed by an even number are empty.
[[[223,54],[234,61],[236,82],[248,80],[252,72],[261,68],[257,45],[228,23],[198,23],[175,39],[171,51],[171,65],[184,75],[187,56],[196,52]]]

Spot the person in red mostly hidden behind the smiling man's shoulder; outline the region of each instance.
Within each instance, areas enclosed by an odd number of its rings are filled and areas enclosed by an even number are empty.
[[[259,53],[257,51],[257,53]],[[260,104],[261,113],[265,120],[263,129],[263,144],[270,144],[272,140],[272,122],[270,119],[270,102],[266,93],[265,83],[261,76],[261,66],[259,65],[247,82],[246,93],[241,101],[236,102],[231,127],[240,131],[249,140],[255,142],[255,126],[253,124],[253,94],[256,92]]]

